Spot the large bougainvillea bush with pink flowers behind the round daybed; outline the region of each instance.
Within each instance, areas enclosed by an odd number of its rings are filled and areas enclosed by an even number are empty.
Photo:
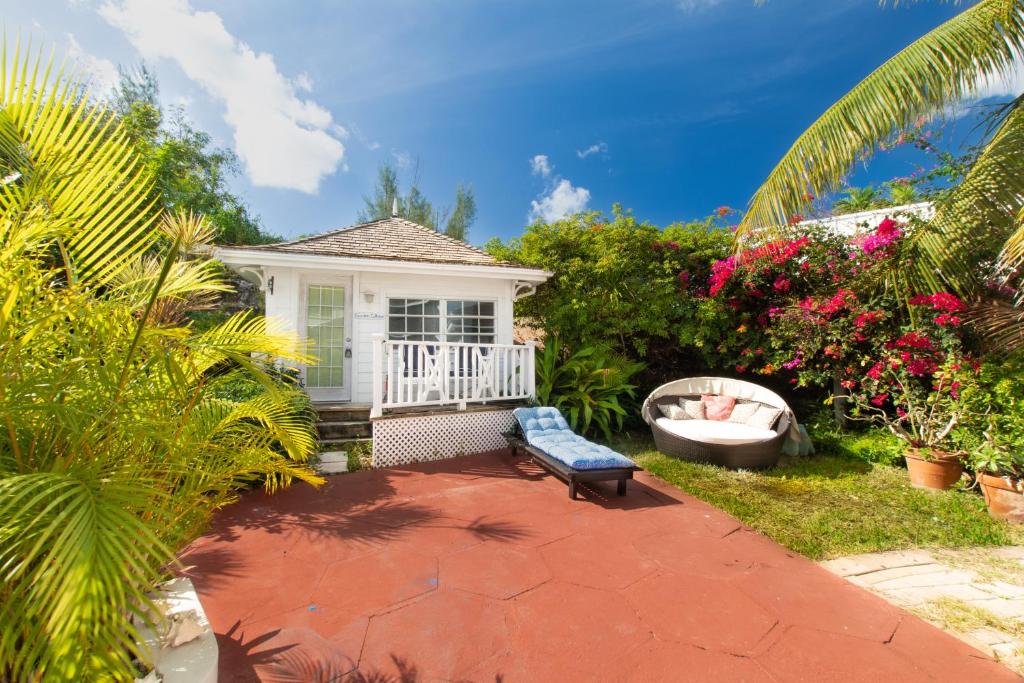
[[[898,306],[883,284],[902,233],[890,219],[853,239],[807,226],[715,263],[708,296],[735,323],[718,351],[737,374],[840,388],[851,359]]]

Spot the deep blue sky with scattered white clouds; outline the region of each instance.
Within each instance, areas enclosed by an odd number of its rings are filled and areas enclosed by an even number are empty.
[[[658,224],[742,207],[821,111],[963,7],[874,0],[5,1],[9,34],[101,85],[144,59],[244,162],[285,237],[354,221],[378,165],[435,203],[476,191],[471,241],[531,215],[632,208]],[[993,92],[1000,90],[993,86]],[[950,139],[968,124],[954,122]],[[958,127],[958,128],[957,128]],[[538,159],[543,156],[545,159]],[[887,155],[856,182],[906,174]]]

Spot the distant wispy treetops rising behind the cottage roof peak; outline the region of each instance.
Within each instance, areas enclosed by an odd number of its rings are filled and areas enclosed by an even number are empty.
[[[476,198],[473,196],[472,185],[459,183],[453,208],[435,207],[420,189],[418,164],[413,171],[409,191],[404,195],[401,194],[398,173],[394,167],[387,163],[381,164],[377,169],[374,193],[364,195],[362,203],[362,210],[357,215],[359,222],[387,218],[397,208],[398,215],[402,218],[462,241],[469,237],[469,228],[476,220]],[[444,225],[443,230],[441,225]]]

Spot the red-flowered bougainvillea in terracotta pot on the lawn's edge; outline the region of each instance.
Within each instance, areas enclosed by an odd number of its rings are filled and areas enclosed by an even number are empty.
[[[912,325],[877,345],[851,395],[854,416],[885,426],[906,443],[911,484],[950,488],[964,473],[954,430],[969,412],[963,392],[974,386],[978,367],[962,350],[962,301],[940,293],[913,297],[910,304],[931,311],[915,311]]]

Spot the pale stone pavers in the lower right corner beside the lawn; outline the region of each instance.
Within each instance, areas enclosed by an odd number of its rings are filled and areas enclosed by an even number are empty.
[[[1018,561],[1024,568],[1024,549],[999,548],[992,555]],[[986,578],[948,562],[929,551],[914,550],[842,557],[821,565],[903,607],[927,607],[945,598],[1024,624],[1024,586]],[[986,627],[954,635],[1018,671],[1024,670],[1024,641],[1014,634]]]

